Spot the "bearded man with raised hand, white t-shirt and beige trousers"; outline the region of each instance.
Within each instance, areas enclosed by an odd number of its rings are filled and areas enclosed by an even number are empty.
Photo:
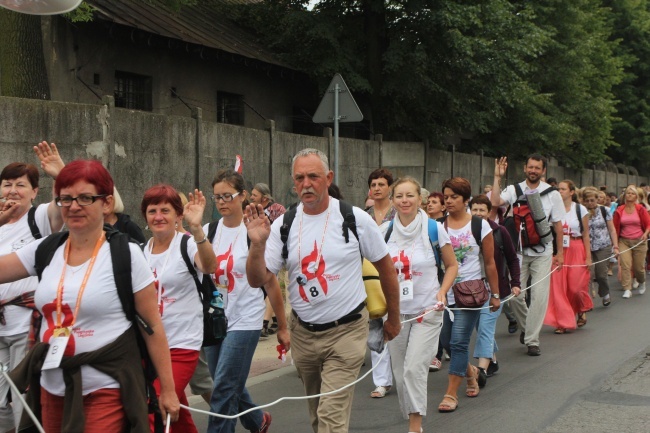
[[[492,204],[494,206],[511,205],[517,201],[517,192],[514,185],[509,185],[501,192],[501,177],[505,175],[508,168],[508,161],[505,157],[495,160],[494,183],[492,187]],[[546,174],[546,158],[539,154],[532,154],[524,165],[526,180],[519,186],[526,191],[536,189],[542,193],[551,186],[542,182],[541,178]],[[510,300],[511,307],[521,327],[519,341],[528,346],[528,355],[539,356],[539,333],[542,330],[546,307],[548,306],[548,294],[551,282],[551,269],[561,267],[564,262],[562,250],[562,219],[565,210],[562,197],[557,191],[552,191],[541,196],[544,214],[547,221],[555,230],[555,242],[557,254],[553,256],[553,239],[551,238],[544,248],[539,251],[524,248],[521,258],[521,281],[526,284],[528,276],[531,277],[530,307],[526,306],[525,297],[518,296]],[[559,245],[558,245],[559,243]]]

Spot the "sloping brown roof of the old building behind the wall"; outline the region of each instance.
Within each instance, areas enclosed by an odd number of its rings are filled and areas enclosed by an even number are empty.
[[[199,0],[178,12],[161,0],[87,0],[96,9],[98,19],[289,67],[257,43],[250,33],[215,11],[215,4],[226,2],[246,5],[259,0]]]

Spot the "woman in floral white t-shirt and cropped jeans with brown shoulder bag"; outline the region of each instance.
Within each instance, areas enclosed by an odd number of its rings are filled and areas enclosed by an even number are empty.
[[[458,261],[458,276],[456,285],[482,285],[481,256],[485,274],[490,288],[488,299],[478,308],[456,309],[454,323],[451,328],[451,361],[449,362],[449,384],[442,402],[438,406],[440,412],[453,412],[458,406],[458,388],[464,377],[467,377],[467,397],[477,397],[478,368],[469,363],[469,341],[472,331],[478,322],[481,306],[497,311],[501,305],[499,299],[499,277],[494,263],[494,238],[492,229],[487,221],[480,220],[478,233],[472,230],[472,215],[467,213],[467,204],[472,194],[472,187],[467,179],[454,177],[442,184],[445,197],[445,207],[448,216],[444,227]],[[478,217],[474,217],[478,218]],[[478,238],[478,239],[477,239]],[[480,241],[480,245],[477,242]],[[454,288],[456,290],[456,288]],[[459,296],[454,292],[456,307],[459,307]]]

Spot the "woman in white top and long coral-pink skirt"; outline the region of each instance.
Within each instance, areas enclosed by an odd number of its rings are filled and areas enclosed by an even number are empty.
[[[587,311],[594,308],[589,295],[591,242],[589,213],[577,203],[576,186],[570,180],[558,184],[566,214],[562,220],[564,266],[551,274],[551,289],[544,324],[556,334],[587,324]],[[577,321],[576,321],[577,315]]]

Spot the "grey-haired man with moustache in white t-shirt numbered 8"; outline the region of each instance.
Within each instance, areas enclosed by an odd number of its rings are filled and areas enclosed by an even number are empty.
[[[399,285],[379,228],[367,213],[353,208],[358,240],[342,234],[338,200],[327,193],[334,177],[327,156],[304,149],[293,158],[292,177],[300,197],[288,233],[288,293],[293,315],[293,360],[307,395],[326,393],[356,380],[366,351],[368,312],[361,255],[379,272],[388,306],[384,338],[400,330]],[[285,214],[286,215],[286,214]],[[249,284],[264,285],[284,264],[280,228],[285,215],[270,226],[261,206],[246,209],[251,239],[246,265]],[[347,432],[354,387],[308,400],[314,432]]]

